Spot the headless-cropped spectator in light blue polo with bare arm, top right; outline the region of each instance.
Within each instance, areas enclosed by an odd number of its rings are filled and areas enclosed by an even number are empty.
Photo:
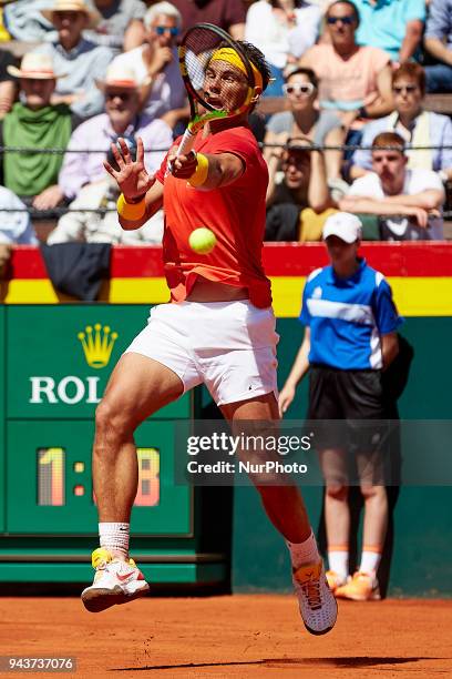
[[[403,63],[418,52],[425,21],[425,0],[353,0],[360,17],[357,42],[384,50]]]

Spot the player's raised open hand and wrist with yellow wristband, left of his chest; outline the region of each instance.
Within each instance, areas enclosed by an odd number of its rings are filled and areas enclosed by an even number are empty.
[[[163,185],[156,182],[155,175],[150,176],[146,172],[143,140],[141,138],[136,140],[135,161],[132,160],[125,141],[121,138],[117,141],[121,153],[115,144],[112,144],[112,152],[119,170],[115,170],[106,161],[104,161],[104,168],[116,180],[125,201],[126,210],[124,212],[126,214],[122,214],[119,209],[120,224],[125,231],[133,231],[143,226],[162,207]],[[129,216],[133,212],[138,216]]]

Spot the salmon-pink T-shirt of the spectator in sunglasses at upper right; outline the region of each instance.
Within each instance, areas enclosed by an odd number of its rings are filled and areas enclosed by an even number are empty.
[[[378,97],[377,77],[390,61],[379,48],[362,47],[342,59],[330,44],[316,44],[306,54],[320,80],[322,109],[353,111],[372,103]]]

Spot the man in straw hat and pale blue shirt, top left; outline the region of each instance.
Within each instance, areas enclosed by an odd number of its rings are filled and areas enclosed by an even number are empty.
[[[79,118],[90,118],[103,108],[101,92],[94,87],[96,78],[103,78],[113,52],[82,37],[88,28],[94,28],[100,16],[84,0],[55,0],[52,9],[42,13],[58,30],[58,39],[42,44],[35,52],[48,54],[59,78],[53,103],[65,103]]]

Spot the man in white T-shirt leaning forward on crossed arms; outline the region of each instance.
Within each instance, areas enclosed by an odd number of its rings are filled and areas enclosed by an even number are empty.
[[[410,170],[407,163],[400,134],[378,134],[372,144],[373,172],[355,180],[339,207],[379,215],[382,241],[441,241],[442,182],[435,172]]]

